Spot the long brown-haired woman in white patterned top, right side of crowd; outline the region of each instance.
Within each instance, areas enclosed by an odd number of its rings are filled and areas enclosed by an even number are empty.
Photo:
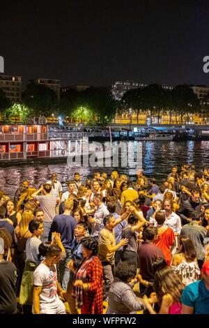
[[[172,267],[180,281],[186,286],[199,280],[200,270],[196,259],[196,250],[187,236],[178,237],[178,253],[173,256]]]

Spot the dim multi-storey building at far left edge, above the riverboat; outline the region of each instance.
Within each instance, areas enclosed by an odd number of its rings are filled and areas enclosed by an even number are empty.
[[[1,74],[0,89],[13,103],[20,103],[22,100],[22,76]]]

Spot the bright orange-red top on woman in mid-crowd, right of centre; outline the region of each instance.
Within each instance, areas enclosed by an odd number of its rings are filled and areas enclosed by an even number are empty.
[[[154,241],[155,245],[162,249],[164,258],[167,260],[167,264],[171,265],[171,251],[170,247],[175,241],[175,234],[171,228],[167,228],[164,232],[158,232],[157,239]]]

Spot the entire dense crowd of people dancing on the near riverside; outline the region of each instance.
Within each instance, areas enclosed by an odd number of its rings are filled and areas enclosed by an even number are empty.
[[[208,187],[183,165],[0,191],[0,313],[209,314]]]

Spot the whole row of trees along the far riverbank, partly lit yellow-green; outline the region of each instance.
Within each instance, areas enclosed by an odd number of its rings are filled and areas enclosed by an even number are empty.
[[[187,84],[177,85],[172,90],[164,89],[160,84],[149,84],[143,89],[125,92],[120,101],[114,99],[108,87],[89,87],[84,91],[69,89],[58,101],[54,90],[30,82],[20,104],[11,103],[0,90],[0,112],[7,122],[15,116],[24,123],[29,117],[54,114],[69,117],[72,122],[107,124],[114,119],[116,112],[122,114],[129,108],[137,114],[137,122],[142,112],[157,115],[158,121],[160,114],[169,112],[171,117],[174,113],[183,121],[185,114],[199,112],[201,105]]]

